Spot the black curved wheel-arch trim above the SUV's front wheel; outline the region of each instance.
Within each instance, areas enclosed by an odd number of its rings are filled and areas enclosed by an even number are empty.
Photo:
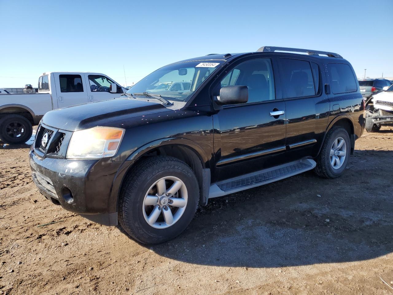
[[[161,138],[158,140],[154,140],[152,142],[149,142],[148,144],[145,144],[144,146],[139,147],[134,151],[129,157],[126,159],[126,161],[129,160],[137,160],[141,155],[144,153],[155,149],[156,147],[160,146],[166,146],[168,144],[178,144],[182,146],[187,146],[191,147],[196,154],[199,156],[203,168],[207,168],[209,166],[209,159],[205,153],[205,151],[200,147],[198,144],[193,142],[192,140],[186,139],[186,138],[181,138],[181,137],[169,137],[169,138]]]

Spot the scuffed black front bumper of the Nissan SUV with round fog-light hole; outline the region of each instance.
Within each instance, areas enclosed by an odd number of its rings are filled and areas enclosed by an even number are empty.
[[[47,199],[94,222],[118,224],[118,192],[131,161],[42,158],[31,150],[29,162],[33,181]]]

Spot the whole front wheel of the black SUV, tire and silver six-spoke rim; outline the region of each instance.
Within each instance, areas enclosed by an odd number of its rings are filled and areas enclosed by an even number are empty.
[[[198,181],[187,164],[173,157],[151,157],[121,187],[119,224],[141,243],[166,242],[189,225],[198,199]]]

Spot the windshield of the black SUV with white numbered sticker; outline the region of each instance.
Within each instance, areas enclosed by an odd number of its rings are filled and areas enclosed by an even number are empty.
[[[164,66],[136,83],[127,93],[158,94],[167,100],[187,101],[223,61],[187,61]]]

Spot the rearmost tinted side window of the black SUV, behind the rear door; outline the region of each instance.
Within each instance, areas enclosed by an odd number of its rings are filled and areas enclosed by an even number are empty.
[[[331,88],[334,94],[355,92],[358,90],[357,81],[351,67],[343,63],[328,63],[331,76]]]

